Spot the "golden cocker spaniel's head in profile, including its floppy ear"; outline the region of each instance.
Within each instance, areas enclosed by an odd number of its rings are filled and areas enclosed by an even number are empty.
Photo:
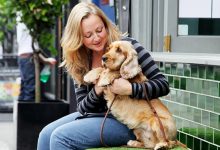
[[[141,71],[137,52],[128,41],[111,43],[107,52],[102,56],[102,64],[112,71],[120,71],[124,79],[133,78]]]

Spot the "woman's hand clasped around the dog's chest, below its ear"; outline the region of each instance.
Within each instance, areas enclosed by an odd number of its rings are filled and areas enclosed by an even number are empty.
[[[132,86],[131,83],[123,78],[115,79],[110,86],[111,92],[118,95],[131,95]]]

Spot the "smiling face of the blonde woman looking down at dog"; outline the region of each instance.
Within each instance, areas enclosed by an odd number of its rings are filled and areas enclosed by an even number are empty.
[[[94,14],[81,22],[83,32],[83,44],[96,52],[102,51],[107,43],[107,32],[102,19]]]

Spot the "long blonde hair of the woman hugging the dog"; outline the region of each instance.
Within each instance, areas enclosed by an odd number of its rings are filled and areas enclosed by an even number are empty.
[[[119,40],[122,36],[118,28],[93,3],[81,2],[72,9],[61,39],[61,46],[63,48],[63,62],[61,66],[67,69],[67,72],[78,84],[84,83],[83,76],[90,69],[90,52],[83,45],[81,28],[82,20],[90,14],[97,15],[102,19],[108,33],[107,45]]]

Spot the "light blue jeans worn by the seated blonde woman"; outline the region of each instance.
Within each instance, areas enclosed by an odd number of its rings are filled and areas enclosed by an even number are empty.
[[[83,150],[103,147],[100,142],[100,129],[103,117],[76,119],[75,112],[58,119],[42,129],[38,138],[37,150]],[[103,137],[109,146],[126,145],[135,139],[132,130],[114,118],[107,118]]]

